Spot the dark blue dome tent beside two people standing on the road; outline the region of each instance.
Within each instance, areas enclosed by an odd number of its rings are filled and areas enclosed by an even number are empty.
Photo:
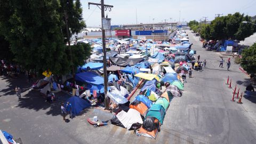
[[[78,115],[79,113],[81,113],[81,111],[85,108],[88,108],[91,106],[91,104],[89,102],[87,102],[86,100],[79,98],[77,96],[71,97],[69,98],[66,103],[69,101],[69,103],[71,103],[72,105],[72,114],[73,115]]]

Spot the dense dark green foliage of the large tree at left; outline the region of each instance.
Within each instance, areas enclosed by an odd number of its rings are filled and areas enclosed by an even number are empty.
[[[57,75],[70,73],[64,8],[68,7],[70,34],[78,33],[85,24],[80,1],[64,2],[67,1],[0,1],[0,34],[10,43],[14,60],[24,68],[39,72],[49,69]],[[84,49],[74,48],[74,67],[86,57]]]

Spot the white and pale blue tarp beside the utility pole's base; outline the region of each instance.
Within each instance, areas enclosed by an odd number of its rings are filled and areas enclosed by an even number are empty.
[[[121,94],[121,92],[119,90],[116,89],[115,86],[110,86],[110,92],[107,92],[107,96],[113,100],[116,103],[126,103],[128,100],[125,99],[124,95]]]

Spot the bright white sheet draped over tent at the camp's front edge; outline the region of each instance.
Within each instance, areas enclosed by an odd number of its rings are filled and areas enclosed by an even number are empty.
[[[116,117],[118,120],[124,125],[124,127],[129,130],[132,126],[132,124],[140,123],[142,124],[143,121],[141,119],[139,111],[130,108],[128,112],[120,111]]]

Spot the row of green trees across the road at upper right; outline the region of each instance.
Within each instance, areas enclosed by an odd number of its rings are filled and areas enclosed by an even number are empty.
[[[244,16],[244,14],[238,12],[217,17],[211,22],[210,30],[209,27],[205,27],[200,34],[206,39],[236,39],[243,41],[246,37],[256,32],[256,28],[249,23],[242,23],[242,21],[251,22],[251,17],[248,15]]]

